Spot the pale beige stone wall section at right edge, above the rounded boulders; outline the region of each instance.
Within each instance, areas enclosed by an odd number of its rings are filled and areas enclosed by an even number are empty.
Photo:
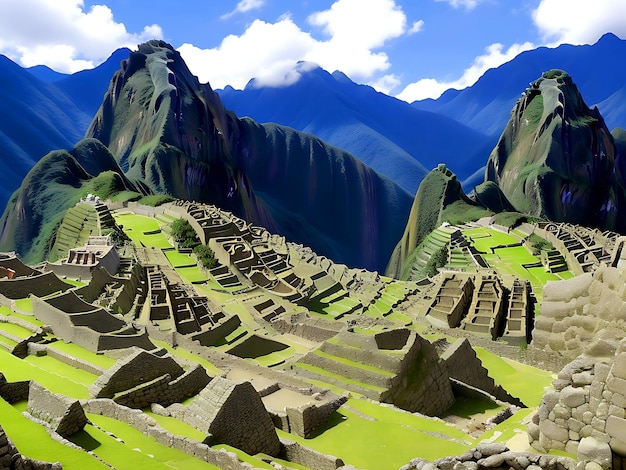
[[[612,358],[626,336],[626,268],[548,282],[528,358],[558,371],[581,354]]]

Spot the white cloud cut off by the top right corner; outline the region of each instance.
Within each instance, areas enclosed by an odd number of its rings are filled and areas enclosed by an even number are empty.
[[[610,31],[626,37],[624,0],[541,0],[533,21],[544,41],[559,44],[592,44]]]

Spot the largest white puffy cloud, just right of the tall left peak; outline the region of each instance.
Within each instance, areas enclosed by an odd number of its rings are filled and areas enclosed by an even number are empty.
[[[257,85],[288,85],[302,73],[296,67],[302,60],[367,81],[391,65],[381,46],[407,33],[406,15],[393,0],[370,0],[367,8],[360,0],[337,0],[307,22],[312,32],[290,16],[275,23],[255,20],[241,36],[230,35],[218,47],[183,44],[178,50],[193,73],[215,88],[242,88],[252,77]]]

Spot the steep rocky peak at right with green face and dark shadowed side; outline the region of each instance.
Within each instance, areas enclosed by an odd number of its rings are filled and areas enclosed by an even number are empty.
[[[520,212],[623,232],[623,160],[598,109],[587,107],[569,75],[552,70],[517,101],[485,181]]]

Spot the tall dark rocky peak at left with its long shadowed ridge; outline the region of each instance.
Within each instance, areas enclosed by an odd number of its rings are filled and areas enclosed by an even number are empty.
[[[336,262],[382,270],[411,205],[409,193],[343,150],[238,119],[160,41],[140,45],[122,63],[86,136],[92,139],[52,152],[25,178],[0,220],[0,249],[41,258],[41,247],[14,242],[53,223],[31,214],[58,214],[97,184],[107,195],[152,192],[215,204]],[[100,158],[108,163],[91,161]]]

